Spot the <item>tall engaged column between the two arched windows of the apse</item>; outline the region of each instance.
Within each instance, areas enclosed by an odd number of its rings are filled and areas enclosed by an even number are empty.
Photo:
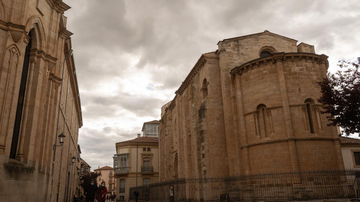
[[[296,153],[296,145],[294,141],[294,133],[291,121],[291,114],[290,114],[290,107],[289,107],[289,100],[288,100],[288,93],[286,89],[285,83],[285,76],[284,76],[284,68],[283,68],[283,55],[284,53],[274,54],[274,58],[276,61],[276,69],[278,72],[278,79],[279,79],[279,87],[280,87],[280,94],[281,100],[283,104],[284,110],[284,118],[285,118],[285,129],[286,134],[288,137],[288,146],[291,158],[291,166],[293,172],[299,171],[298,161],[297,161],[297,153]]]

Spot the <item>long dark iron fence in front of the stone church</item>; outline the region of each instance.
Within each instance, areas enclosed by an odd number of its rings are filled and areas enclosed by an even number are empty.
[[[174,201],[309,201],[344,200],[357,197],[360,170],[307,171],[238,175],[225,178],[177,179],[130,188],[130,199],[169,201],[169,186],[174,186]]]

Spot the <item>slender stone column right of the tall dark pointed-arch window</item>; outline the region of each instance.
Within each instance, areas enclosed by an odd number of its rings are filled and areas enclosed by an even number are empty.
[[[30,96],[31,96],[31,87],[32,87],[32,77],[34,74],[34,67],[35,63],[37,61],[37,57],[30,53],[30,71],[29,76],[27,78],[27,87],[26,87],[26,98],[24,100],[24,109],[23,109],[23,115],[21,120],[21,130],[20,130],[20,136],[19,136],[19,144],[18,144],[18,152],[17,152],[17,159],[19,161],[23,161],[24,153],[24,138],[26,133],[26,125],[27,125],[27,115],[29,111],[29,105],[30,105]]]

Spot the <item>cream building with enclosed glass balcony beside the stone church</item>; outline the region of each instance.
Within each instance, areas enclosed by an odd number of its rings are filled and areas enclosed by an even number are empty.
[[[128,201],[131,187],[159,182],[159,139],[138,137],[116,143],[116,198]]]

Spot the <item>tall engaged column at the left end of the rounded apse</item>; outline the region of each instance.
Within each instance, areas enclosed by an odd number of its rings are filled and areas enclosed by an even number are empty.
[[[243,159],[245,174],[250,174],[249,147],[247,145],[248,142],[247,142],[245,115],[244,115],[243,91],[241,85],[241,71],[235,73],[235,82],[236,82],[236,105],[238,109],[239,132],[241,139],[241,143],[240,143],[241,156]]]

